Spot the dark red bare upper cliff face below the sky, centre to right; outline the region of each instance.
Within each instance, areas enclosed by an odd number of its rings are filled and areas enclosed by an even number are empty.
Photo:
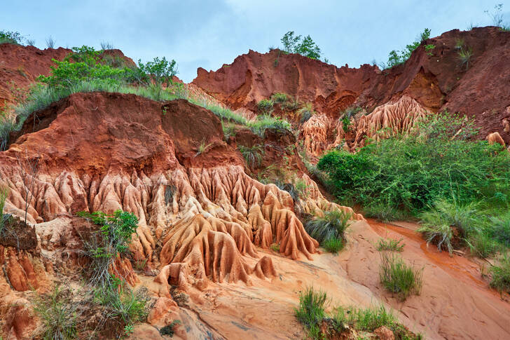
[[[434,48],[427,51],[426,45]],[[472,50],[467,63],[460,61],[460,46]],[[347,65],[338,68],[280,50],[265,54],[250,50],[216,72],[198,69],[193,84],[233,109],[251,111],[256,111],[259,100],[273,93],[287,93],[301,102],[312,102],[319,114],[333,120],[352,104],[371,112],[406,96],[430,112],[448,109],[474,116],[481,138],[499,132],[508,143],[509,62],[510,33],[497,27],[477,27],[470,31],[454,29],[427,39],[406,63],[392,69],[381,71],[368,64],[359,69]],[[333,130],[336,121],[329,125]],[[309,149],[311,154],[317,153],[316,145]]]

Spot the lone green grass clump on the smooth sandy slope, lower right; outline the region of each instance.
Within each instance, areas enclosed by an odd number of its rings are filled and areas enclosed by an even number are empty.
[[[379,278],[382,285],[404,301],[411,294],[420,294],[422,270],[408,266],[394,254],[381,254]]]

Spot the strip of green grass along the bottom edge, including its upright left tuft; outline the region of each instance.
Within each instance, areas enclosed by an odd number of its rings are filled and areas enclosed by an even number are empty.
[[[338,339],[343,339],[342,334],[347,326],[363,332],[373,332],[375,329],[385,326],[392,330],[397,340],[423,339],[421,334],[413,334],[399,324],[394,313],[383,305],[368,308],[337,306],[333,308],[332,315],[326,313],[327,306],[328,299],[325,292],[309,287],[299,295],[299,305],[294,309],[294,312],[296,318],[308,331],[307,335],[310,339],[326,339],[326,334],[321,331],[323,322],[331,326],[332,329],[329,331],[336,332],[336,335],[339,336]]]

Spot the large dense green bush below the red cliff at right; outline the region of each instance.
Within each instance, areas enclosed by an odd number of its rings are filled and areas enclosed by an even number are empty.
[[[409,135],[368,144],[357,154],[333,150],[317,168],[336,196],[364,207],[382,205],[417,216],[455,193],[460,203],[510,196],[510,154],[499,144],[471,141],[472,121],[448,113],[427,116]]]

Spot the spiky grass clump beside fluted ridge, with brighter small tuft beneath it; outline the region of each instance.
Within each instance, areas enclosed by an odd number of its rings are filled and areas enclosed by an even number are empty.
[[[326,250],[338,252],[345,246],[345,230],[352,224],[350,212],[331,210],[305,223],[306,231]]]

